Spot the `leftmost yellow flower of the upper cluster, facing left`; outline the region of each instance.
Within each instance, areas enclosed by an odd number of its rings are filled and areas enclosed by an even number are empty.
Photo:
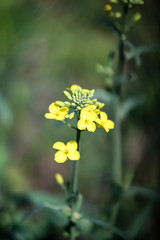
[[[63,121],[68,112],[68,107],[60,107],[57,103],[52,103],[49,106],[49,113],[46,113],[45,117],[47,119],[56,119],[58,121]]]

